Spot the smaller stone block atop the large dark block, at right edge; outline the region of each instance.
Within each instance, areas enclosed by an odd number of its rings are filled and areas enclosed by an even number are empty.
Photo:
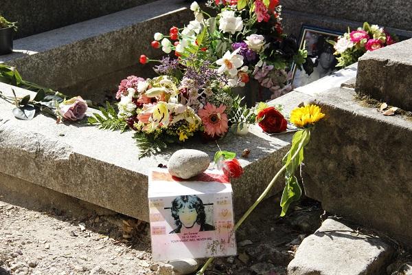
[[[412,39],[367,52],[358,69],[356,92],[412,111]]]

